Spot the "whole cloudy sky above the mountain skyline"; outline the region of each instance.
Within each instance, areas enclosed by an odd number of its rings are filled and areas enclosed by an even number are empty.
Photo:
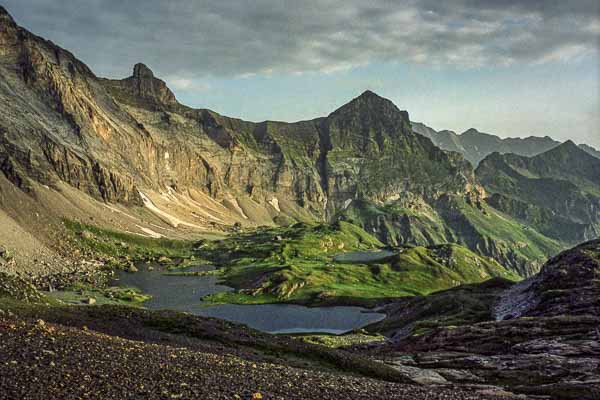
[[[365,90],[458,133],[600,148],[598,0],[0,0],[99,76],[145,63],[180,102],[250,121]]]

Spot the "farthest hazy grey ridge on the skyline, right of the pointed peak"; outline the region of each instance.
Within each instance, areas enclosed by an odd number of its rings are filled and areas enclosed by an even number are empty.
[[[473,128],[460,135],[447,130],[437,132],[420,122],[413,122],[412,128],[416,133],[431,139],[441,149],[461,153],[474,167],[477,167],[481,160],[494,152],[531,157],[544,153],[560,144],[560,142],[549,136],[502,139],[489,133],[479,132]],[[593,147],[586,144],[581,144],[579,147],[600,158],[600,151]]]

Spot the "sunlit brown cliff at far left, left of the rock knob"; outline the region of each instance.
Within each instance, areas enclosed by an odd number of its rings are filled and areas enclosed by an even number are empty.
[[[143,143],[143,133],[119,130],[130,120],[70,53],[7,14],[1,22],[0,145],[11,180],[26,186],[27,177],[61,179],[105,200],[135,202],[124,149]]]

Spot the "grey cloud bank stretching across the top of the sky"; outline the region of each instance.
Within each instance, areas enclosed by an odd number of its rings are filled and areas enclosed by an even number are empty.
[[[377,62],[470,68],[596,54],[597,0],[6,0],[17,22],[100,74],[144,62],[182,89],[204,76]]]

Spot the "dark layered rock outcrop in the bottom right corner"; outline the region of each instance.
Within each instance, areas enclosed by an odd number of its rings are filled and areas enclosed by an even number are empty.
[[[600,241],[588,242],[510,288],[496,279],[392,303],[374,327],[392,341],[361,350],[400,372],[454,384],[597,399],[599,277]]]

